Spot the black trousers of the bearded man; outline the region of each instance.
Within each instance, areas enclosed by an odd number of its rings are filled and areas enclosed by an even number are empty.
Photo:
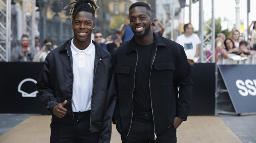
[[[134,112],[129,135],[121,135],[122,143],[176,143],[176,129],[173,125],[157,134],[154,140],[154,123],[151,112]]]

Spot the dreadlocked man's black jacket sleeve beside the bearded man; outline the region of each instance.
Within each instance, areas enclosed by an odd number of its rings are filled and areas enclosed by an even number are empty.
[[[113,78],[112,60],[110,56],[109,74],[108,74],[108,92],[104,109],[104,116],[102,121],[102,128],[100,130],[99,143],[109,143],[112,130],[112,117],[116,106],[116,90]]]

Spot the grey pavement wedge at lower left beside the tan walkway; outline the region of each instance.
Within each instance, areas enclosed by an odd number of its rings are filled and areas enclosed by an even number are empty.
[[[28,114],[0,114],[0,135],[29,117]]]

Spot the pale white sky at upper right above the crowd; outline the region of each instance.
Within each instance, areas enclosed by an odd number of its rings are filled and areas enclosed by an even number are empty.
[[[236,2],[235,0],[214,0],[215,2],[215,18],[221,17],[222,19],[227,18],[230,20],[230,24],[236,23]],[[187,4],[189,4],[189,0],[187,0]],[[247,30],[247,0],[240,0],[240,20],[241,24],[244,24],[244,29]],[[251,12],[249,13],[249,25],[251,21],[256,21],[256,0],[251,0],[250,7]],[[198,21],[199,21],[199,3],[195,3],[192,5],[192,23],[194,25],[195,30],[198,29]],[[188,7],[185,8],[185,23],[188,23]],[[204,12],[206,15],[211,16],[211,0],[204,0]],[[205,19],[207,16],[205,16]],[[232,25],[231,24],[231,25]],[[229,27],[231,30],[231,27]]]

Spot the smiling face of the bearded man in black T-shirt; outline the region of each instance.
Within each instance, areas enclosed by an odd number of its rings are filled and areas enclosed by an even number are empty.
[[[129,11],[130,26],[137,38],[144,38],[151,31],[151,18],[149,11],[143,6],[136,6]]]

